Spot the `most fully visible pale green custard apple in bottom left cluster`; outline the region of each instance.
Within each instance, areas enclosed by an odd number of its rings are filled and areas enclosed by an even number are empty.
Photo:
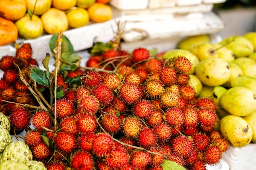
[[[10,143],[0,154],[0,163],[6,160],[20,161],[24,164],[32,161],[32,152],[24,142]]]

